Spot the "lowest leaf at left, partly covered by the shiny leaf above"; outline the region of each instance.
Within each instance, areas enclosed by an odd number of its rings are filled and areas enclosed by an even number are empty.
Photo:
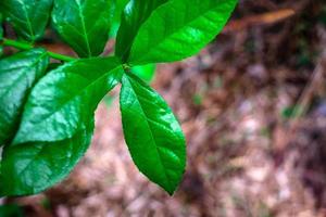
[[[67,176],[89,146],[92,127],[79,129],[71,139],[7,145],[0,173],[0,195],[39,193]]]

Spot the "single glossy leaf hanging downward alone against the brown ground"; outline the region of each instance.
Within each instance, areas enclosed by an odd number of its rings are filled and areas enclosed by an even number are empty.
[[[181,128],[165,101],[134,75],[123,75],[121,112],[126,143],[139,170],[173,194],[185,171]]]

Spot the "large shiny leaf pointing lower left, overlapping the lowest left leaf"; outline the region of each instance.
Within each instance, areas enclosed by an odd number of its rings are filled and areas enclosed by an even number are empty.
[[[13,144],[72,138],[92,119],[98,103],[118,82],[121,71],[116,58],[96,58],[70,62],[47,74],[27,100]]]

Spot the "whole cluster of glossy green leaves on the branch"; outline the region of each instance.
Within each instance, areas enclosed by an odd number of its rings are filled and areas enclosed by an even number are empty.
[[[4,38],[0,28],[0,47],[25,51],[0,59],[0,194],[35,194],[62,180],[88,149],[99,102],[118,84],[130,155],[145,176],[172,194],[185,171],[185,137],[137,68],[198,53],[236,3],[1,0],[0,23],[10,24],[17,39]],[[34,48],[49,25],[79,59]],[[103,56],[110,36],[116,36],[115,52]]]

